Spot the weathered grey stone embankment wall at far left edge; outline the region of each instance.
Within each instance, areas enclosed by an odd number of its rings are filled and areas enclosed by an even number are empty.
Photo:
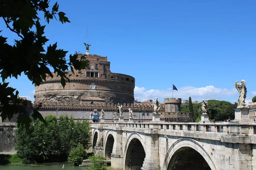
[[[0,123],[0,154],[15,154],[16,123]]]

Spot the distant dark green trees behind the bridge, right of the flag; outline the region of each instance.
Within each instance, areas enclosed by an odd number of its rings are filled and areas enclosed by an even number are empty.
[[[200,120],[202,114],[201,103],[193,104],[194,116],[197,116],[197,121]],[[209,119],[215,121],[224,121],[235,119],[235,112],[237,104],[232,104],[227,101],[219,101],[219,100],[208,100],[207,110],[209,114]],[[196,122],[197,122],[196,121]]]

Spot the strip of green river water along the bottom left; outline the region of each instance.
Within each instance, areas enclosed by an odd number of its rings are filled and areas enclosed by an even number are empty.
[[[86,167],[77,167],[72,166],[68,163],[45,163],[45,164],[36,164],[36,165],[0,165],[0,170],[62,170],[62,166],[64,164],[63,170],[86,170]]]

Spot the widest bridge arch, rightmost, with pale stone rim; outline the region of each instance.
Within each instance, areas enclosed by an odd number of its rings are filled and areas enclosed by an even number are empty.
[[[176,164],[179,159],[182,159],[180,161],[182,162],[182,169],[186,170],[186,164],[184,164],[184,162],[186,161],[184,161],[184,157],[186,157],[185,159],[188,159],[188,153],[193,155],[193,160],[201,161],[201,165],[204,166],[205,162],[206,164],[208,164],[208,166],[206,166],[204,170],[217,170],[211,157],[204,150],[204,148],[201,147],[201,145],[198,144],[195,140],[189,138],[180,138],[175,143],[172,144],[163,162],[163,170],[176,170],[175,166],[177,167],[178,170],[180,168],[179,165],[174,164]],[[195,156],[198,157],[198,159],[195,159]],[[189,169],[192,168],[191,165],[189,164],[187,164],[187,166],[189,166]]]

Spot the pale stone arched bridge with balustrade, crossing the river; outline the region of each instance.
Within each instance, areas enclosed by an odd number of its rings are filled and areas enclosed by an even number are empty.
[[[111,159],[114,168],[256,169],[256,124],[100,122],[90,127],[93,152]]]

